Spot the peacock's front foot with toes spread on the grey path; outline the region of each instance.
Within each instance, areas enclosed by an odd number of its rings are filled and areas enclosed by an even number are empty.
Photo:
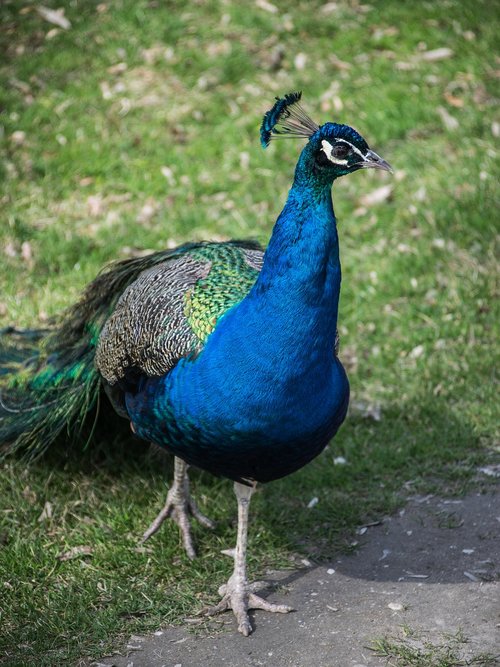
[[[256,595],[254,591],[262,588],[263,583],[260,581],[249,584],[248,582],[238,582],[232,576],[227,584],[219,588],[219,595],[222,595],[219,604],[208,607],[201,613],[204,616],[215,616],[232,609],[238,621],[238,632],[241,632],[244,637],[248,637],[252,632],[252,625],[248,617],[249,609],[262,609],[278,614],[288,614],[288,612],[294,611],[293,607],[286,604],[273,604]]]

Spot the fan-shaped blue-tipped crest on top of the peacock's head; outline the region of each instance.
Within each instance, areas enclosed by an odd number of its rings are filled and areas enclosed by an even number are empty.
[[[277,97],[273,108],[264,114],[260,128],[260,143],[263,148],[269,146],[273,137],[308,139],[319,129],[300,106],[301,97],[300,91]]]

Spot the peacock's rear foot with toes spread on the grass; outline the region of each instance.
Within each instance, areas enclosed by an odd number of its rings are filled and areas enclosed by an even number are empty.
[[[182,543],[188,557],[191,558],[191,560],[196,558],[196,551],[193,546],[191,526],[189,523],[190,516],[199,521],[205,528],[215,527],[214,522],[200,511],[199,507],[191,498],[189,491],[180,489],[174,484],[167,494],[167,501],[162,510],[142,536],[141,543],[144,544],[146,540],[154,535],[165,519],[171,518],[179,526]]]

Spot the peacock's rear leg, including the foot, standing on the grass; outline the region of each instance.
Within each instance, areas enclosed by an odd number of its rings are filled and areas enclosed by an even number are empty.
[[[174,459],[174,482],[167,494],[167,500],[161,512],[142,536],[141,542],[154,535],[165,519],[171,517],[179,526],[182,542],[189,558],[195,558],[196,552],[191,537],[189,515],[193,516],[205,528],[213,528],[214,522],[202,514],[189,493],[188,464],[177,456]]]

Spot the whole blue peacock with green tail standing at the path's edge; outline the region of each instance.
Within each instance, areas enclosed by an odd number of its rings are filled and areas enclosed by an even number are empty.
[[[246,241],[187,243],[104,269],[47,330],[0,336],[0,442],[40,455],[63,431],[109,406],[143,440],[175,456],[165,506],[144,533],[179,525],[195,551],[188,467],[234,482],[234,570],[208,615],[287,613],[246,575],[248,512],[258,482],[316,457],[344,421],[349,383],[337,356],[341,268],[331,188],[359,169],[391,171],[347,125],[318,126],[301,93],[276,98],[260,130],[307,140],[265,252]]]

